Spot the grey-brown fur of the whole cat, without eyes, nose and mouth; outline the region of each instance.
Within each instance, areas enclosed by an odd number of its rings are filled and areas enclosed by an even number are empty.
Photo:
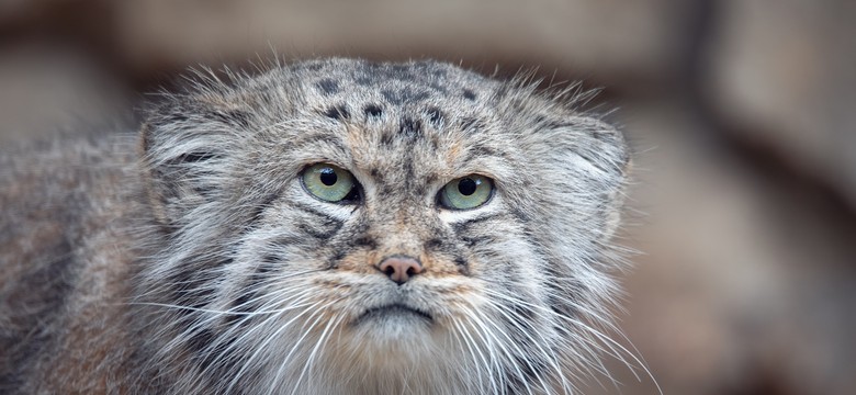
[[[623,137],[436,61],[200,72],[132,136],[0,157],[0,392],[561,394],[605,331]],[[329,162],[357,205],[302,187]],[[470,173],[496,191],[437,205]],[[425,271],[397,285],[393,255]],[[391,303],[406,314],[367,315]],[[632,356],[631,356],[632,357]]]

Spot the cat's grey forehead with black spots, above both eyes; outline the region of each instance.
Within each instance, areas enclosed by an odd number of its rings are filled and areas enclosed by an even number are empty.
[[[503,149],[499,81],[433,60],[329,59],[292,66],[301,83],[301,139],[340,146],[341,162],[372,169],[454,167]],[[309,147],[307,147],[309,148]]]

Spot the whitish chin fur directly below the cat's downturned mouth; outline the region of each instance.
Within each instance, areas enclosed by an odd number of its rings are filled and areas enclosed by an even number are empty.
[[[471,356],[452,334],[426,325],[420,317],[395,314],[373,320],[354,330],[304,339],[291,361],[268,366],[271,372],[262,374],[266,382],[259,387],[270,388],[270,394],[307,395],[489,392],[466,387],[473,385],[475,375],[464,369],[472,363],[468,362]],[[263,360],[278,359],[271,356]]]

